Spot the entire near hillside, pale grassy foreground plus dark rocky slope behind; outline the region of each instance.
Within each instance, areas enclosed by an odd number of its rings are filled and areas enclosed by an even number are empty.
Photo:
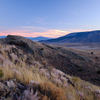
[[[8,35],[0,40],[0,99],[99,100],[93,85],[100,85],[99,60],[92,53]]]

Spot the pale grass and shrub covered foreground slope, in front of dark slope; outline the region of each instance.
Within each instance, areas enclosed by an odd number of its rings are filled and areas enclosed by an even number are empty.
[[[36,60],[34,54],[32,56],[32,52],[27,52],[22,48],[18,45],[0,45],[1,100],[100,99],[100,87],[83,81],[79,77],[69,76],[57,68],[50,66],[48,59],[37,57],[39,60]],[[63,52],[65,51],[63,50]],[[67,51],[66,53],[72,55],[71,52]],[[74,53],[73,55],[76,57]],[[60,59],[65,56],[59,54],[58,57]],[[81,59],[80,56],[77,57]],[[78,68],[80,69],[81,67]],[[83,71],[78,70],[78,72]]]

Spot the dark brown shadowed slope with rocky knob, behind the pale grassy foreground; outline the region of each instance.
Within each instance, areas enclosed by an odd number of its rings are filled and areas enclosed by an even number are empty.
[[[100,85],[97,72],[100,70],[100,58],[91,53],[77,53],[63,47],[54,47],[44,43],[33,42],[21,36],[7,36],[1,40],[2,44],[15,45],[23,54],[17,54],[23,58],[28,54],[26,63],[33,64],[36,60],[49,68],[53,66],[69,75],[78,76],[81,79]],[[13,50],[16,53],[17,50]],[[90,77],[91,76],[91,77]]]

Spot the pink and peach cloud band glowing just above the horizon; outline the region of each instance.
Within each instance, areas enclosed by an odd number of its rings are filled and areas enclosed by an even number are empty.
[[[69,33],[73,32],[83,32],[83,31],[91,31],[91,30],[82,30],[82,29],[66,29],[67,31],[63,30],[47,30],[44,32],[32,32],[29,30],[10,30],[10,31],[1,31],[0,36],[4,35],[20,35],[24,37],[38,37],[38,36],[43,36],[43,37],[52,37],[52,38],[57,38],[60,36],[67,35]]]

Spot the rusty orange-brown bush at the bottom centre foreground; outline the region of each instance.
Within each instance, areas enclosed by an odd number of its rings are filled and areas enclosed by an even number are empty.
[[[56,87],[54,84],[45,82],[38,86],[38,89],[45,98],[50,100],[66,100],[66,96],[61,88]]]

